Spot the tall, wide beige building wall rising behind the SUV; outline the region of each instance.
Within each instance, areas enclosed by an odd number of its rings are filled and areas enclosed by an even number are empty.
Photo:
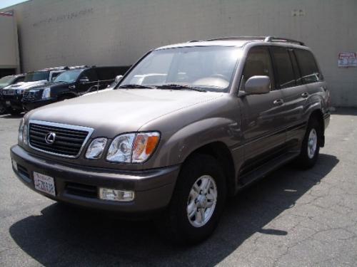
[[[167,43],[217,36],[304,41],[330,84],[333,105],[357,107],[356,0],[30,0],[14,6],[24,70],[130,65]]]

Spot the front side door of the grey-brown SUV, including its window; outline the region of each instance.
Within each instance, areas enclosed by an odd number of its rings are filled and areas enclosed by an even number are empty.
[[[241,98],[244,157],[247,168],[265,162],[268,157],[281,150],[286,140],[283,94],[275,85],[268,46],[253,47],[248,52],[242,83],[253,75],[269,76],[271,91],[262,95],[245,95]]]

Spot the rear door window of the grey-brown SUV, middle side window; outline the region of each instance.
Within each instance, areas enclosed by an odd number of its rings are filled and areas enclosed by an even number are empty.
[[[288,49],[281,47],[272,47],[274,64],[276,68],[278,88],[288,88],[296,85],[293,66],[291,65]]]

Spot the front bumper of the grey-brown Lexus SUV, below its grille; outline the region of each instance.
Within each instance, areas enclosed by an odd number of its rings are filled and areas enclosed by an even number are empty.
[[[16,169],[13,164],[17,177],[39,194],[79,206],[121,211],[125,214],[147,214],[164,209],[174,192],[180,169],[179,165],[175,165],[129,172],[79,167],[31,155],[18,145],[11,147],[11,159],[17,164]],[[54,177],[56,197],[35,189],[34,172]],[[73,184],[79,187],[79,190],[73,190]],[[99,187],[131,190],[135,192],[135,199],[129,202],[102,200],[98,197]],[[89,189],[92,190],[91,193]]]

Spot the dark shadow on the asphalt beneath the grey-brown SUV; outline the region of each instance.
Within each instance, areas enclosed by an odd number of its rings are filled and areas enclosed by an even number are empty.
[[[9,231],[16,244],[44,266],[214,266],[256,232],[288,234],[263,227],[294,206],[338,162],[333,155],[321,154],[313,169],[286,166],[273,172],[228,199],[218,229],[196,246],[164,241],[149,221],[121,221],[113,214],[62,204],[17,221]]]

